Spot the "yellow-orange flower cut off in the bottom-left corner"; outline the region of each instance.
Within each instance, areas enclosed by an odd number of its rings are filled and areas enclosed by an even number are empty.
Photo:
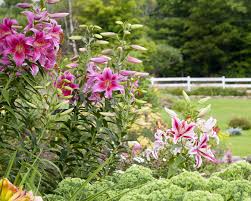
[[[32,192],[26,192],[14,186],[8,179],[0,180],[1,201],[43,201],[40,196],[33,196]]]

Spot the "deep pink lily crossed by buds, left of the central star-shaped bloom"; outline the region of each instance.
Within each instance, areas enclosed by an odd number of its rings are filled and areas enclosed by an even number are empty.
[[[64,96],[70,96],[74,89],[78,89],[79,85],[74,84],[75,76],[70,72],[65,71],[63,75],[59,76],[56,83],[56,88],[61,89]]]

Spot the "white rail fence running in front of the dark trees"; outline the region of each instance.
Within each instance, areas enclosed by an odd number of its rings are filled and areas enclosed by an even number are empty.
[[[223,77],[165,77],[151,78],[151,84],[158,88],[180,87],[191,91],[194,87],[251,88],[251,78]]]

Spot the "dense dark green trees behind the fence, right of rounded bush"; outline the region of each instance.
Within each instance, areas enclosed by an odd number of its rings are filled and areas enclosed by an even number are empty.
[[[181,50],[185,75],[247,76],[250,12],[247,0],[158,0],[152,36]]]

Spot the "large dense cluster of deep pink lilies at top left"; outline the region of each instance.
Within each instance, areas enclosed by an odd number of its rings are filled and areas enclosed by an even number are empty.
[[[56,64],[63,30],[47,11],[24,11],[27,26],[18,32],[16,20],[4,18],[0,24],[0,68],[8,65],[30,67],[36,75],[41,66],[46,70]]]

